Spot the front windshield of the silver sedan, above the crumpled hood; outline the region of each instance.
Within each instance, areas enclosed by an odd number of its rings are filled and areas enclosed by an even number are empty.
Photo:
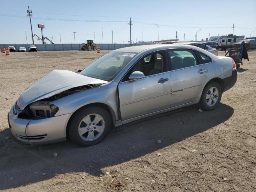
[[[80,74],[104,81],[111,81],[134,58],[136,53],[109,52],[92,62]]]

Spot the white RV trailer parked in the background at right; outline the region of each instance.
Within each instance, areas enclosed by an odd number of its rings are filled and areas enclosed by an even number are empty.
[[[240,42],[241,40],[244,40],[244,36],[236,36],[232,34],[210,37],[210,41],[216,42],[218,44],[218,48],[221,48],[221,50],[234,47],[235,43]]]

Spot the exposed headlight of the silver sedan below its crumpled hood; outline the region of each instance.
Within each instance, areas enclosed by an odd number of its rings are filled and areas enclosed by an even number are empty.
[[[59,108],[48,103],[48,101],[36,101],[29,105],[30,111],[34,117],[37,118],[50,118],[53,117],[59,110]]]

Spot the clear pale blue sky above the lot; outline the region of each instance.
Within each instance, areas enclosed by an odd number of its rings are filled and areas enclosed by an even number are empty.
[[[33,34],[54,43],[128,43],[132,18],[132,42],[206,39],[234,34],[250,37],[256,30],[256,0],[0,0],[0,44],[32,43],[28,6],[32,10]],[[157,24],[158,26],[156,26]],[[185,34],[185,38],[184,38]],[[256,37],[256,31],[251,36]],[[34,38],[35,44],[39,44]],[[42,43],[42,42],[40,42]]]

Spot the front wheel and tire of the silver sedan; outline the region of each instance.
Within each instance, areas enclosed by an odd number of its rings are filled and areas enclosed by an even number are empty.
[[[95,125],[94,120],[96,116],[96,121],[102,120]],[[112,124],[108,112],[103,108],[90,106],[81,108],[73,114],[68,123],[68,134],[72,142],[79,146],[87,147],[102,142],[109,134],[111,128]]]

